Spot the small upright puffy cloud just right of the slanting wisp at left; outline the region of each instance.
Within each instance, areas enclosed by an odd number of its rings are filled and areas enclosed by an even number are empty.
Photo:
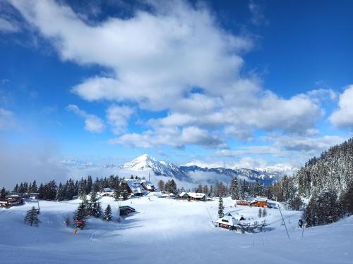
[[[128,119],[133,114],[133,108],[128,106],[110,106],[107,109],[107,119],[112,125],[112,132],[114,134],[121,134],[128,125]]]

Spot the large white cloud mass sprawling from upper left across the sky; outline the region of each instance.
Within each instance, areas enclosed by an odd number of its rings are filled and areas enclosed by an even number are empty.
[[[205,5],[150,1],[152,12],[136,10],[130,18],[97,23],[52,0],[11,3],[61,59],[109,69],[109,77],[91,76],[73,93],[87,101],[133,102],[167,113],[143,120],[147,128],[140,134],[127,132],[111,143],[221,147],[229,138],[251,139],[256,130],[311,134],[323,116],[318,96],[285,99],[262,87],[256,76],[244,77],[242,56],[252,40],[224,30]],[[258,4],[251,1],[249,8],[253,19],[263,20]],[[100,124],[86,129],[101,131],[102,122],[89,116],[85,120]],[[131,109],[107,110],[116,134],[124,132],[131,116]]]

